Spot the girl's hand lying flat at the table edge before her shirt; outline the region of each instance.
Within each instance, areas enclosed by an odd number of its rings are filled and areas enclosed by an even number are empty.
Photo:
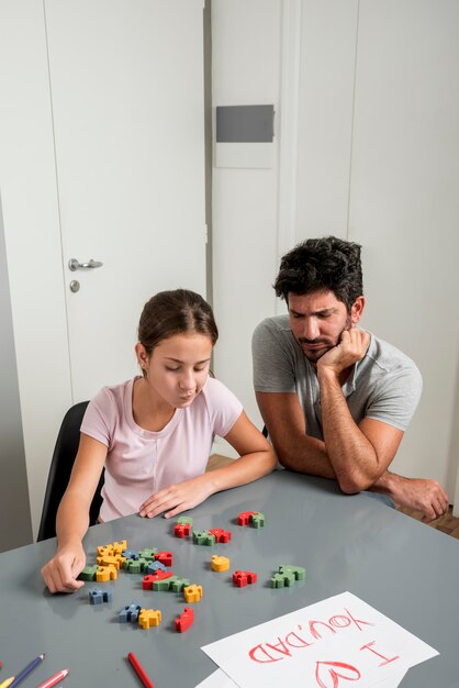
[[[165,512],[165,518],[170,519],[208,499],[213,492],[210,485],[211,479],[206,475],[169,485],[146,499],[141,506],[139,514],[153,519],[158,513]]]

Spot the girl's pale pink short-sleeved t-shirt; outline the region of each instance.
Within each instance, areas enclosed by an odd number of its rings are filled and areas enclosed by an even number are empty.
[[[132,411],[136,379],[101,389],[81,423],[82,433],[108,447],[102,521],[137,513],[158,490],[202,475],[214,436],[224,437],[243,412],[233,392],[210,377],[193,403],[176,409],[163,430],[143,430]]]

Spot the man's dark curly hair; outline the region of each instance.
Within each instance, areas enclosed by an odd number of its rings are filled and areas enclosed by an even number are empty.
[[[304,295],[333,291],[350,312],[363,293],[359,244],[336,236],[307,238],[286,253],[273,285],[278,297],[288,302],[289,292]]]

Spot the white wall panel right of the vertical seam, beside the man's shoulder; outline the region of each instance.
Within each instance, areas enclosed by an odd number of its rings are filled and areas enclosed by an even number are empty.
[[[451,496],[459,455],[458,84],[456,0],[360,3],[349,236],[363,244],[365,323],[411,355],[424,377],[394,468],[435,477]]]

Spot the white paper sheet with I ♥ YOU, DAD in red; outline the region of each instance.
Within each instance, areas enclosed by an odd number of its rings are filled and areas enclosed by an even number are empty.
[[[342,688],[349,681],[356,688],[389,688],[402,672],[438,654],[350,592],[202,650],[240,688],[298,685],[300,677],[311,688]]]

